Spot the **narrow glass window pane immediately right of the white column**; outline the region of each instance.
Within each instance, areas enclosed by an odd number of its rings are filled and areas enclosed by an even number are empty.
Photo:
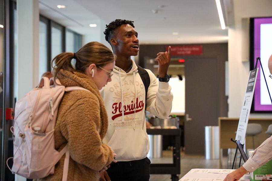
[[[39,22],[39,78],[47,71],[47,24]]]

